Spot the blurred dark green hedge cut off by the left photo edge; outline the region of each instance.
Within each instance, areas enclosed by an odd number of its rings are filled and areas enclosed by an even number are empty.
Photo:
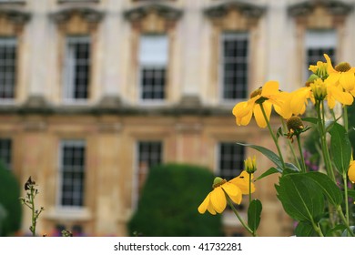
[[[20,196],[20,187],[14,173],[0,162],[0,236],[11,236],[20,230]]]

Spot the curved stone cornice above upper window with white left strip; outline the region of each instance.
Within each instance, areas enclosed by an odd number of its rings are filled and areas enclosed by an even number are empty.
[[[84,6],[69,6],[66,8],[62,8],[50,16],[57,23],[66,22],[70,17],[74,14],[80,15],[86,22],[88,23],[97,23],[99,22],[104,14],[96,10],[95,8],[84,7]]]

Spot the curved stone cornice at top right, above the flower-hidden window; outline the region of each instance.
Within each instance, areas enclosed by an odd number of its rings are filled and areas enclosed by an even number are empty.
[[[330,15],[348,15],[352,5],[337,0],[312,0],[304,1],[295,5],[289,5],[289,15],[310,15],[316,6],[323,6]]]

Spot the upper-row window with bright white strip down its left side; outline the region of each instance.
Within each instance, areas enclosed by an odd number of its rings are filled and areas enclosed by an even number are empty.
[[[69,101],[88,98],[90,82],[90,37],[69,36],[66,38],[64,97]]]

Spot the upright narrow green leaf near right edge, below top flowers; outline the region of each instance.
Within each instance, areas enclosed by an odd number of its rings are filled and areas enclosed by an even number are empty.
[[[345,128],[338,123],[334,123],[330,128],[330,152],[333,162],[343,174],[348,171],[351,158],[351,144],[348,133]]]

